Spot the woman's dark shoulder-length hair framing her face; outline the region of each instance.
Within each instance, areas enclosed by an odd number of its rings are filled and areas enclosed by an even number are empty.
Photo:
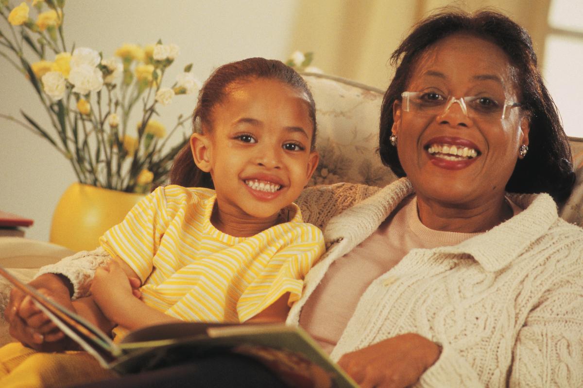
[[[396,147],[389,137],[393,126],[393,103],[401,99],[417,58],[431,45],[452,34],[468,34],[496,44],[516,71],[519,98],[530,119],[528,154],[519,159],[506,190],[514,193],[549,193],[557,202],[571,194],[575,173],[571,149],[559,113],[537,68],[529,34],[507,16],[492,10],[468,13],[447,8],[422,20],[391,55],[395,77],[385,92],[381,107],[380,147],[382,162],[397,176],[405,176]]]

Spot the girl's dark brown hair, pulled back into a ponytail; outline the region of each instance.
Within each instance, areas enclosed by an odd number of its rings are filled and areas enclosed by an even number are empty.
[[[220,66],[206,80],[198,94],[198,103],[192,115],[192,131],[212,129],[213,108],[220,104],[229,95],[233,87],[256,79],[278,80],[282,83],[305,93],[308,98],[309,115],[313,131],[311,150],[315,147],[316,137],[316,104],[314,97],[304,79],[296,70],[285,63],[265,58],[248,58],[227,65]],[[170,170],[170,183],[185,187],[214,188],[210,174],[196,167],[190,144],[178,152]]]

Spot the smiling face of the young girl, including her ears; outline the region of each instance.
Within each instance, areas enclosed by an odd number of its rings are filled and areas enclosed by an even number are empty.
[[[296,200],[318,164],[309,112],[303,92],[272,79],[237,84],[213,108],[212,129],[193,134],[191,147],[220,215],[275,223]]]

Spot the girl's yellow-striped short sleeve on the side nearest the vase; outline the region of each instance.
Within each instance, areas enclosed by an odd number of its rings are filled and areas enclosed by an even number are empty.
[[[143,283],[152,273],[153,257],[168,226],[167,219],[166,196],[164,188],[159,187],[101,236],[99,243],[111,257],[127,262]]]

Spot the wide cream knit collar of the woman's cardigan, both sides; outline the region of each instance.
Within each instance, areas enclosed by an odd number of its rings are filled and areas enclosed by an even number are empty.
[[[401,178],[346,209],[326,225],[326,245],[342,240],[342,251],[352,250],[373,234],[396,206],[412,193],[410,181]],[[533,240],[545,233],[559,215],[553,198],[548,194],[508,194],[508,197],[524,211],[487,232],[458,245],[435,248],[434,252],[469,254],[488,272],[509,265]]]

